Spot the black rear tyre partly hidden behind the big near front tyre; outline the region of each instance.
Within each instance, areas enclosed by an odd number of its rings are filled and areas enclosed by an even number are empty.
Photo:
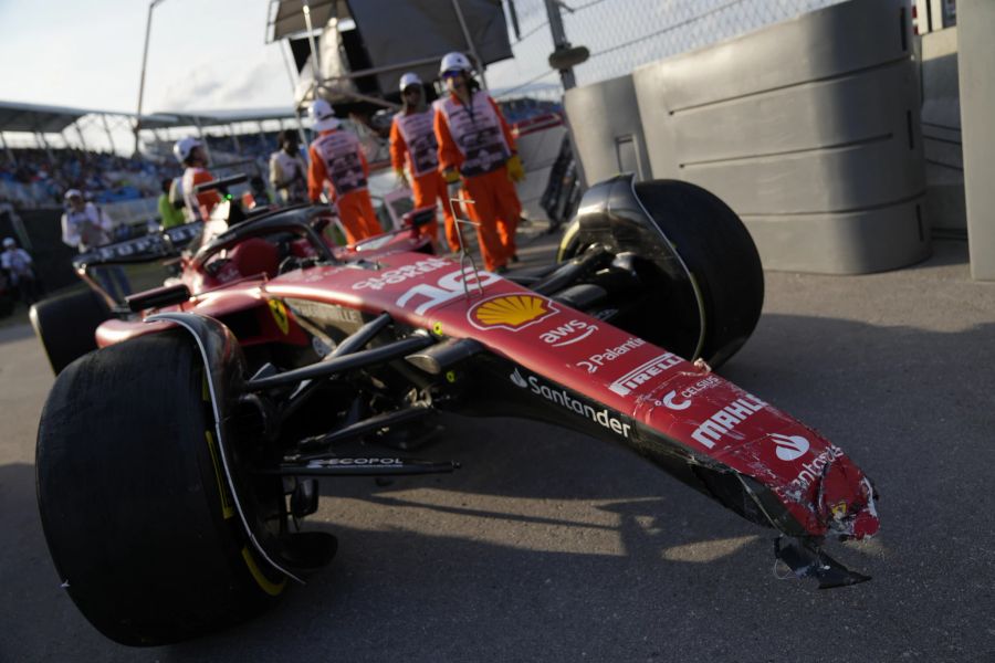
[[[57,375],[96,349],[94,333],[111,317],[106,302],[91,290],[43,299],[31,307],[31,326]]]

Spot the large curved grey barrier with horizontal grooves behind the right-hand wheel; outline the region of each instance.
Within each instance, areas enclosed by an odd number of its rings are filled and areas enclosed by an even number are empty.
[[[652,176],[729,202],[767,269],[862,273],[922,260],[910,13],[903,0],[846,2],[640,67]]]

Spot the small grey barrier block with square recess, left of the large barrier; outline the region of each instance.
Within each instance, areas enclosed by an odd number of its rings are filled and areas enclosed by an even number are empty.
[[[635,172],[639,180],[650,177],[632,76],[568,90],[564,107],[588,185],[619,172]]]

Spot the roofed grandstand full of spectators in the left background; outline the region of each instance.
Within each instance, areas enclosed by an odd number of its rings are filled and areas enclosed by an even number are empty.
[[[122,152],[113,128],[128,133],[133,114],[0,102],[0,203],[18,210],[61,209],[66,189],[83,190],[118,224],[144,225],[156,219],[156,199],[165,178],[180,175],[174,141],[198,135],[213,166],[237,164],[265,177],[276,133],[297,126],[290,108],[143,115],[142,150]],[[103,129],[108,149],[95,148],[83,128]]]

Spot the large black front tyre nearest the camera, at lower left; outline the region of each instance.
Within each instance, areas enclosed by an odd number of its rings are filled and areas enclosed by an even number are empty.
[[[70,365],[42,411],[38,501],[49,550],[86,619],[123,644],[243,621],[286,583],[253,551],[233,508],[203,373],[189,337],[144,336]],[[282,513],[280,478],[263,480]]]

